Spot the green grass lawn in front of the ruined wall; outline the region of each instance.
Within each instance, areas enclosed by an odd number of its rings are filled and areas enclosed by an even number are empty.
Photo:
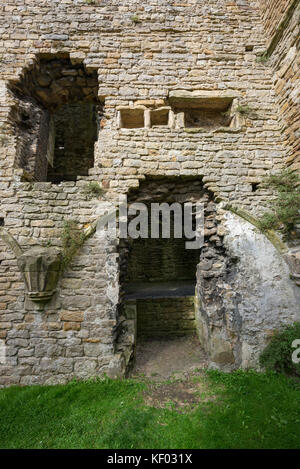
[[[195,378],[216,398],[147,406],[146,382],[109,380],[0,390],[1,448],[299,448],[300,382],[274,373]],[[199,396],[200,399],[200,396]]]

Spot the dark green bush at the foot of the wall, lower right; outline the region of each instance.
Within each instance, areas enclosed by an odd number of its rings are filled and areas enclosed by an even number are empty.
[[[300,376],[300,364],[293,363],[292,347],[294,340],[300,340],[300,323],[284,327],[277,331],[270,343],[260,355],[260,364],[267,370]]]

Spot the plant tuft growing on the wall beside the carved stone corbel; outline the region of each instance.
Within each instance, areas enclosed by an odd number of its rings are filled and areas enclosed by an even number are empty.
[[[66,220],[64,222],[62,234],[62,247],[63,247],[63,267],[65,268],[77,250],[83,245],[85,235],[83,231],[78,228],[75,220]]]

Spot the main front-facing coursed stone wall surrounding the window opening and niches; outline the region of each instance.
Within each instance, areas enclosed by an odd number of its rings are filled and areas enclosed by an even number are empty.
[[[2,3],[0,217],[5,229],[23,248],[59,245],[64,219],[88,225],[107,207],[103,200],[87,200],[80,181],[30,185],[18,168],[11,90],[39,71],[40,60],[55,59],[60,70],[59,61],[69,57],[75,67],[97,73],[104,113],[94,168],[81,181],[101,182],[112,200],[137,188],[145,176],[201,176],[217,200],[260,212],[269,194],[256,190],[257,183],[281,168],[288,153],[273,69],[257,62],[265,47],[260,11],[251,0]],[[66,80],[49,89],[45,82],[39,86],[50,107],[67,96]],[[188,107],[198,99],[208,110],[229,96],[232,125],[222,127],[219,120],[185,127],[171,103],[171,94],[180,90],[198,96],[190,95]],[[89,96],[90,89],[86,92]],[[161,108],[168,109],[168,121],[149,121],[151,111]],[[123,128],[124,109],[125,115],[139,109],[142,126]],[[124,372],[117,346],[122,321],[116,244],[91,237],[42,310],[25,300],[15,256],[1,242],[0,338],[9,355],[0,385]]]

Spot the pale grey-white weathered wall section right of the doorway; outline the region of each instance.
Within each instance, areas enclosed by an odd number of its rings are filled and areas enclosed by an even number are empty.
[[[211,368],[257,368],[260,351],[274,331],[300,320],[300,290],[281,253],[257,228],[233,213],[219,213],[224,246],[235,266],[219,282],[217,307],[223,314],[218,318],[198,290],[200,341]]]

